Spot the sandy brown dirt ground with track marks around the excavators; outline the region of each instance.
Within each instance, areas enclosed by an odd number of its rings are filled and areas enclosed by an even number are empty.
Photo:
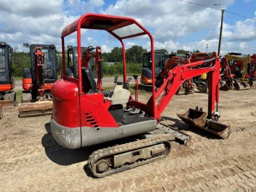
[[[139,100],[146,101],[143,92]],[[164,160],[95,179],[87,159],[101,144],[69,150],[56,143],[50,115],[18,118],[17,108],[0,120],[0,191],[256,191],[256,90],[220,92],[220,122],[231,136],[220,140],[191,131],[176,113],[196,105],[207,111],[208,95],[178,95],[165,109],[164,123],[192,136],[192,146],[172,142]]]

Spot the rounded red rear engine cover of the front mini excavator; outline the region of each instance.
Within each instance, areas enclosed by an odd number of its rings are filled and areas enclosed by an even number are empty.
[[[54,120],[66,127],[80,126],[79,95],[76,83],[59,79],[52,86]]]

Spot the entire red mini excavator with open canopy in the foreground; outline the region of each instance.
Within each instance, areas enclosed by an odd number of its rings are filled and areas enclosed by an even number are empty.
[[[102,78],[100,47],[85,50],[85,58],[90,55],[90,50],[95,50],[91,56],[96,59],[97,83],[93,78],[92,70],[87,68],[88,62],[82,62],[81,28],[105,30],[122,44],[123,82],[115,79],[114,87],[110,92],[103,92],[100,85]],[[77,32],[77,78],[67,76],[65,70],[64,37],[73,32]],[[147,103],[138,101],[138,76],[136,75],[133,76],[136,82],[135,98],[129,92],[131,77],[127,79],[123,42],[123,39],[141,35],[148,35],[151,43],[153,91]],[[52,86],[51,131],[54,139],[65,148],[75,149],[126,138],[126,140],[119,140],[112,147],[96,150],[90,155],[88,167],[95,177],[105,177],[165,158],[171,150],[168,140],[173,140],[173,137],[188,145],[190,141],[188,135],[160,123],[161,113],[184,81],[203,73],[208,73],[208,114],[201,108],[196,108],[189,109],[178,116],[191,128],[199,128],[223,139],[229,137],[230,126],[216,122],[220,117],[218,103],[221,58],[214,57],[176,66],[155,92],[153,36],[136,20],[87,13],[63,29],[61,40],[63,78],[57,80]],[[89,59],[90,56],[87,58]],[[214,110],[215,102],[216,111]],[[124,108],[123,105],[126,107]],[[130,136],[133,136],[133,139]],[[128,142],[131,140],[132,142]]]

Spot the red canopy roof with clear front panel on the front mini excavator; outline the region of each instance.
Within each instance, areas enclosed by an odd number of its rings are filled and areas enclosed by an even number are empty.
[[[130,17],[86,13],[62,30],[61,38],[79,28],[106,30],[118,39],[149,34],[147,29]]]

